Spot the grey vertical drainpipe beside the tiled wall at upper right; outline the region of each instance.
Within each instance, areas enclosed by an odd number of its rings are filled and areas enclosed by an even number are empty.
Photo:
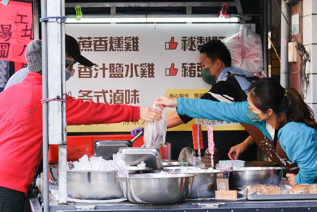
[[[281,10],[290,23],[290,5],[282,0]],[[289,87],[288,42],[289,28],[281,14],[281,85],[285,88]]]

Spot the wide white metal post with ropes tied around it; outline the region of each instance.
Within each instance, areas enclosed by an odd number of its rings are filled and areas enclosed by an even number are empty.
[[[65,2],[48,1],[47,16],[65,15]],[[59,96],[65,99],[65,23],[58,18],[57,22],[47,25],[47,64],[48,64],[48,98]],[[67,147],[66,147],[66,110],[65,102],[48,102],[49,144],[59,145],[59,203],[67,202]]]

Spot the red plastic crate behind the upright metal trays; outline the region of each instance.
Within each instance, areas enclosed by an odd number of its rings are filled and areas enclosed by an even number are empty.
[[[84,154],[88,157],[93,155],[95,140],[132,140],[133,137],[129,134],[67,136],[67,161],[78,161]],[[133,147],[141,147],[143,144],[143,136],[140,136],[134,141]],[[160,148],[160,152],[163,157],[163,148]],[[57,144],[49,146],[49,162],[58,162]]]

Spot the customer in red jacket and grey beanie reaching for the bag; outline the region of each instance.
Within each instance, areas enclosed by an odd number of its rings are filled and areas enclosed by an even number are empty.
[[[0,211],[23,211],[41,155],[42,41],[30,42],[25,56],[27,76],[0,93]],[[68,125],[153,121],[161,118],[160,113],[150,107],[84,102],[70,96],[66,102]]]

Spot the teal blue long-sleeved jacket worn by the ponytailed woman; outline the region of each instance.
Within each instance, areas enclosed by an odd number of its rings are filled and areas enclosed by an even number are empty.
[[[255,123],[247,116],[247,101],[215,102],[208,99],[177,99],[176,108],[180,115],[210,120],[224,120],[248,123],[258,127],[263,134],[271,138],[266,122]],[[317,131],[301,122],[289,122],[277,134],[282,149],[292,162],[300,168],[295,182],[313,183],[317,177]],[[272,138],[273,140],[273,138]]]

